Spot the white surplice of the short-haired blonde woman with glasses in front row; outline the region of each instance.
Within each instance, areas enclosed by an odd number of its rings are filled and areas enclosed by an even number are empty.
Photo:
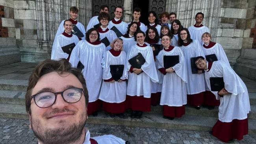
[[[118,56],[114,56],[111,52],[107,51],[104,57],[104,64],[103,79],[112,78],[110,65],[124,65],[124,71],[120,79],[128,79],[128,73],[126,72],[126,53],[124,51]],[[103,81],[99,99],[108,103],[124,102],[126,99],[126,81],[115,81],[114,83]]]

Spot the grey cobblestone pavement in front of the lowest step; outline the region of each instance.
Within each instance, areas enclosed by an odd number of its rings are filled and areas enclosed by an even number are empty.
[[[220,144],[217,138],[205,131],[157,129],[133,126],[87,124],[91,137],[112,134],[129,140],[131,144]],[[29,120],[0,118],[0,143],[35,144],[37,138],[29,128]],[[246,135],[234,144],[255,144],[256,136]]]

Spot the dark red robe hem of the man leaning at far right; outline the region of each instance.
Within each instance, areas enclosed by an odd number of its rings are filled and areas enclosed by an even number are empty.
[[[248,118],[244,120],[232,120],[232,122],[221,122],[218,120],[212,128],[212,135],[223,142],[232,139],[241,140],[243,135],[248,134]]]

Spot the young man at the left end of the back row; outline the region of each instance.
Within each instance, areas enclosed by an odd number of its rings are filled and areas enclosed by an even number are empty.
[[[70,15],[70,19],[69,20],[72,22],[72,24],[76,25],[77,28],[83,33],[83,35],[85,35],[85,28],[84,28],[83,24],[78,22],[77,19],[76,19],[78,17],[78,8],[75,7],[75,6],[70,7],[69,15]],[[63,28],[64,21],[65,20],[63,20],[59,24],[59,28],[58,28],[58,30],[56,32],[56,35],[55,35],[54,39],[56,39],[58,37],[58,35],[63,33],[63,31],[64,31],[64,28]],[[85,37],[78,37],[78,38],[79,38],[79,40],[85,40]]]

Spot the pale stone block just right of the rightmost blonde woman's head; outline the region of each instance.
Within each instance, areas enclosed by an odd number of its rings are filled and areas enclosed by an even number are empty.
[[[217,42],[225,49],[240,50],[242,48],[243,38],[217,37]]]

